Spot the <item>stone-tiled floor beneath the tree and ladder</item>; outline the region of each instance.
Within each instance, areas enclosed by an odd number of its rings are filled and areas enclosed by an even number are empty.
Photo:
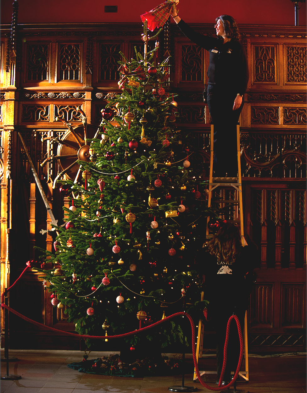
[[[92,352],[89,359],[105,353]],[[0,393],[164,393],[170,386],[182,386],[182,376],[125,378],[83,374],[67,367],[80,362],[83,353],[79,351],[12,350],[9,358],[9,374],[22,376],[19,380],[1,380]],[[169,355],[172,356],[172,355]],[[173,355],[178,356],[178,355]],[[4,351],[1,350],[1,358]],[[193,362],[186,355],[187,362]],[[200,370],[215,370],[215,356],[208,355],[200,360]],[[238,382],[238,393],[307,393],[306,354],[250,355],[249,382]],[[1,377],[6,375],[6,362],[1,362]],[[216,388],[216,375],[207,373],[204,382]],[[199,392],[209,392],[199,382],[193,382],[193,375],[185,375],[185,386],[197,387]],[[184,390],[182,390],[184,391]],[[233,387],[227,392],[233,392]]]

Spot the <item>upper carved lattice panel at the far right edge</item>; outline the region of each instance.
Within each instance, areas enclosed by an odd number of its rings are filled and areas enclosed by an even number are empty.
[[[306,49],[306,46],[287,46],[287,82],[307,82]]]

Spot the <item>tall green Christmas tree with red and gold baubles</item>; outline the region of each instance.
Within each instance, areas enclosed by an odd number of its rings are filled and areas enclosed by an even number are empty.
[[[71,206],[44,273],[52,304],[66,306],[79,334],[133,331],[164,312],[198,320],[204,308],[194,255],[210,213],[206,182],[189,136],[176,127],[168,59],[156,64],[157,50],[136,51],[131,61],[122,55],[121,90],[87,141],[82,178],[60,187]],[[180,335],[178,321],[146,333],[162,347]],[[127,338],[129,347],[139,341]]]

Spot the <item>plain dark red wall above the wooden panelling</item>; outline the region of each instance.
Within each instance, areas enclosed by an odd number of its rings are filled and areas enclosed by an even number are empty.
[[[161,1],[161,0],[160,0]],[[18,0],[18,23],[141,22],[159,0]],[[1,0],[2,24],[11,23],[12,0]],[[301,4],[299,24],[306,26],[306,3]],[[105,13],[105,6],[118,6],[117,13]],[[179,14],[186,22],[214,22],[222,14],[239,23],[294,25],[294,6],[290,0],[181,0]]]

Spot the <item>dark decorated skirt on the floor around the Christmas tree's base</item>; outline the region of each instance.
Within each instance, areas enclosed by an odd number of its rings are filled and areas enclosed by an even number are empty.
[[[93,360],[84,359],[83,362],[74,362],[68,364],[79,373],[99,374],[99,375],[116,375],[116,376],[163,376],[175,375],[182,373],[182,361],[177,359],[169,359],[166,356],[161,357],[160,362],[154,362],[147,358],[136,360],[131,364],[121,362],[119,354],[103,356]],[[191,370],[190,370],[191,369]],[[185,373],[193,372],[193,365],[185,365]]]

